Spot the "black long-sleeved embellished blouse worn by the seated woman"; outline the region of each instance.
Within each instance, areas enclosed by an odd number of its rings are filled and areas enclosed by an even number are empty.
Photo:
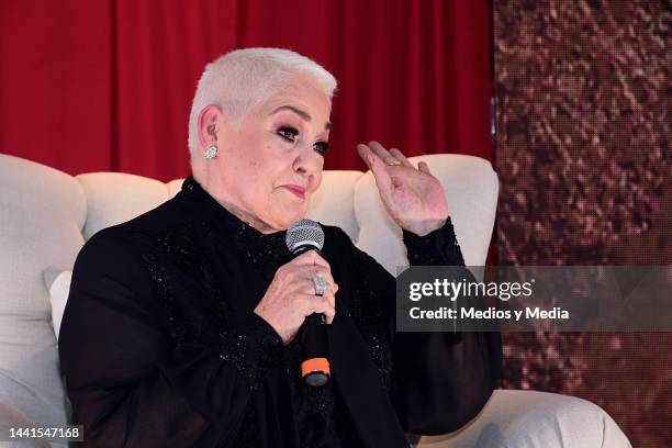
[[[253,310],[291,259],[193,178],[80,251],[59,352],[91,447],[407,447],[481,410],[497,380],[491,333],[396,333],[395,282],[338,227],[323,257],[339,284],[332,381],[307,388],[295,341]],[[450,220],[403,232],[412,265],[463,266]]]

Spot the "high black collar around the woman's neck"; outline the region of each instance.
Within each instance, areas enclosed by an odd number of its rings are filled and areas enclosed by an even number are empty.
[[[182,193],[215,232],[235,235],[253,262],[277,261],[287,259],[290,255],[284,242],[287,231],[262,234],[220,204],[203,190],[193,176],[184,179]]]

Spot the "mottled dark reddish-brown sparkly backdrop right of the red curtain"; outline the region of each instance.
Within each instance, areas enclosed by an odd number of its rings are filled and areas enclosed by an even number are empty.
[[[672,1],[494,0],[500,264],[672,264]],[[672,294],[672,292],[671,292]],[[672,447],[671,334],[509,334],[503,388]]]

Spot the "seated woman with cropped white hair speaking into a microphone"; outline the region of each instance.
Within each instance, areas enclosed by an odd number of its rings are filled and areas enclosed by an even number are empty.
[[[395,333],[394,278],[340,228],[322,225],[320,254],[285,245],[322,180],[335,88],[287,49],[206,66],[192,176],[75,265],[59,351],[85,446],[405,447],[404,433],[457,429],[488,401],[497,334]],[[376,142],[357,150],[412,265],[463,266],[427,165]],[[328,343],[314,370],[309,322]]]

